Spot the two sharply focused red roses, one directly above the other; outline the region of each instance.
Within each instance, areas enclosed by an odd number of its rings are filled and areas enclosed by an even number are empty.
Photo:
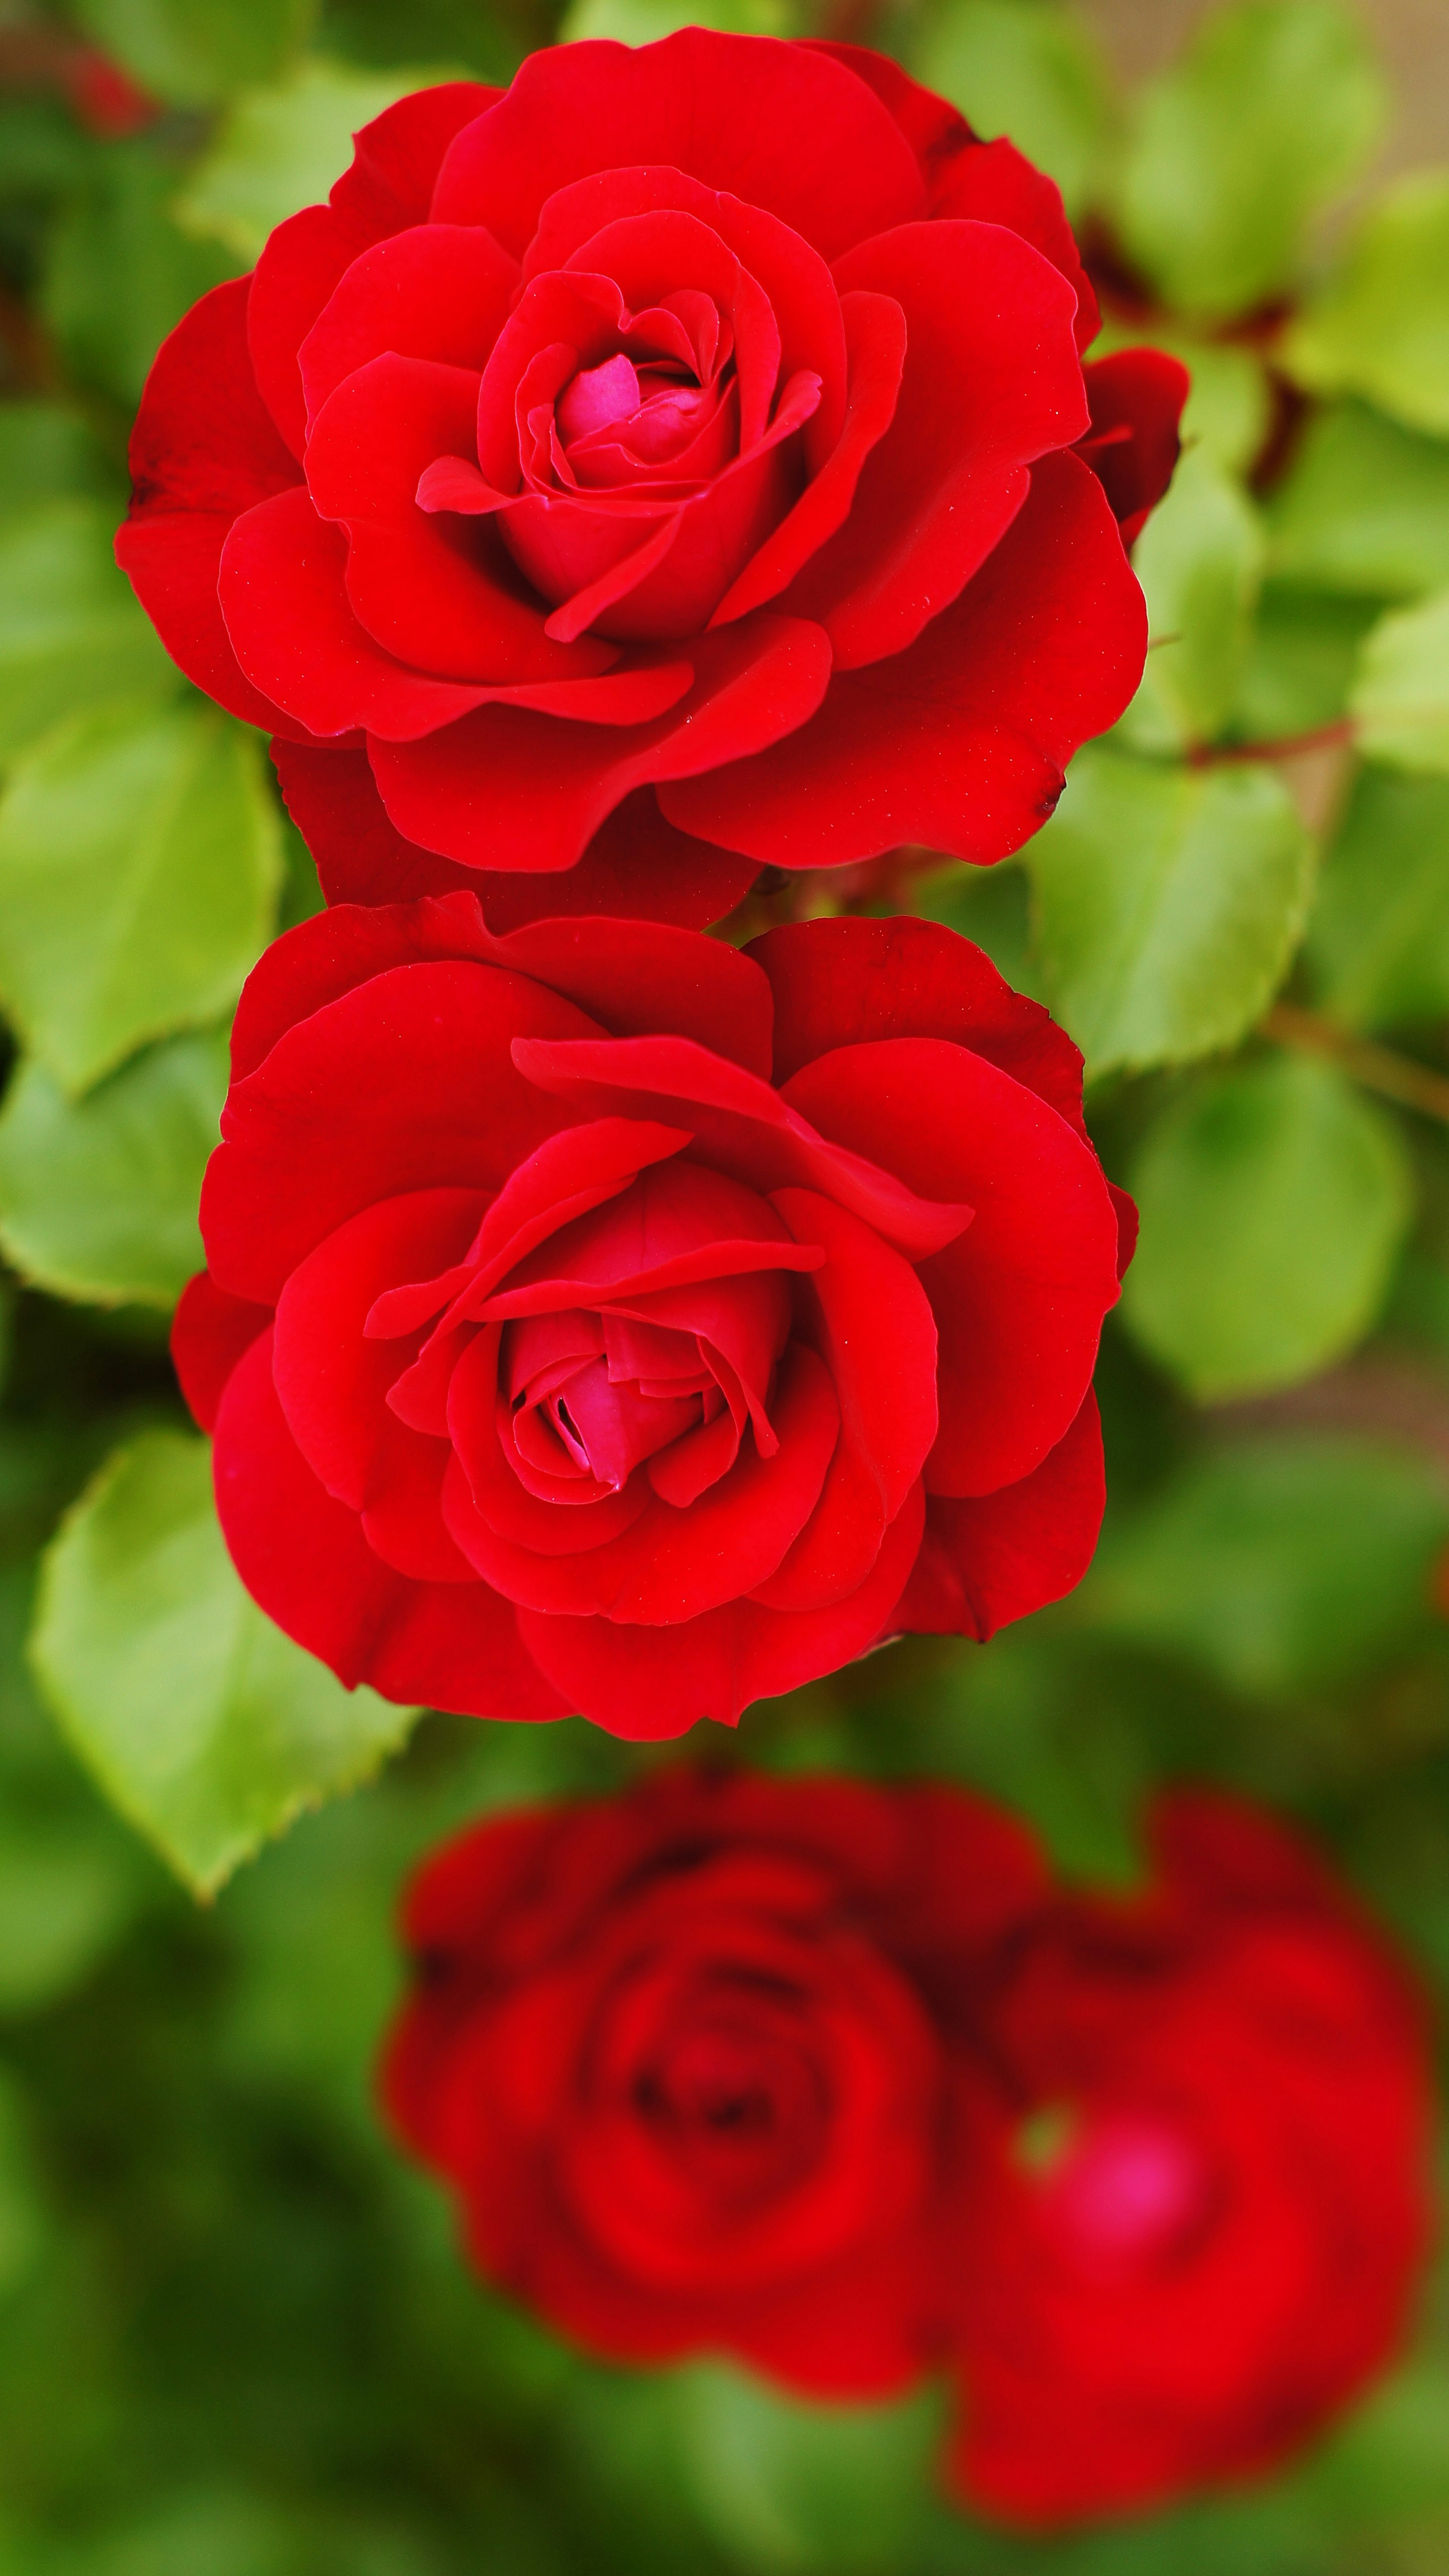
[[[173,1347],[343,1682],[670,1736],[1083,1574],[1075,1048],[926,922],[704,927],[1003,858],[1127,706],[1186,376],[1096,327],[1008,142],[691,28],[405,98],[165,343],[119,556],[330,902]]]

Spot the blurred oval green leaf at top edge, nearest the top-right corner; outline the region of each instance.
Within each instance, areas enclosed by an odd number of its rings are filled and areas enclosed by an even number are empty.
[[[1140,95],[1116,193],[1124,250],[1181,312],[1248,312],[1292,281],[1310,216],[1356,175],[1385,106],[1346,8],[1209,13]]]

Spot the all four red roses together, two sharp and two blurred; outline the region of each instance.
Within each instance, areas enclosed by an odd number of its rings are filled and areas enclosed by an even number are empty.
[[[1078,1051],[923,920],[706,933],[1006,858],[1127,708],[1186,376],[1096,330],[1011,142],[691,28],[405,98],[160,350],[119,559],[327,902],[173,1352],[345,1685],[668,1739],[1085,1571],[1134,1211]],[[392,2120],[593,2352],[949,2372],[993,2514],[1261,2468],[1400,2331],[1423,2040],[1271,1824],[1152,1852],[1070,1893],[954,1790],[696,1772],[482,1826]]]

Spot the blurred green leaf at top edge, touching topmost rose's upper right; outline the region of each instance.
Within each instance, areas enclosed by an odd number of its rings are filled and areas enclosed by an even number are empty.
[[[910,70],[977,134],[1008,134],[1049,170],[1073,222],[1085,214],[1106,142],[1106,75],[1075,13],[1052,0],[944,0]]]

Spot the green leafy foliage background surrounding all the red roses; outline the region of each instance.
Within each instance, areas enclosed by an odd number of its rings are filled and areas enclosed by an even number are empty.
[[[647,1757],[348,1698],[227,1566],[165,1327],[240,981],[317,889],[111,567],[124,440],[162,332],[389,98],[686,15],[0,0],[0,2576],[1439,2576],[1436,2285],[1292,2476],[1029,2545],[936,2499],[936,2391],[583,2365],[462,2272],[371,2110],[413,1855]],[[1444,1991],[1449,173],[1364,185],[1392,103],[1336,0],[1227,8],[1132,98],[1057,0],[848,31],[1060,178],[1104,348],[1194,368],[1140,698],[1021,863],[910,896],[1083,1046],[1142,1252],[1078,1597],[758,1708],[737,1754],[980,1783],[1119,1883],[1152,1783],[1238,1785]],[[142,131],[72,113],[83,44]]]

